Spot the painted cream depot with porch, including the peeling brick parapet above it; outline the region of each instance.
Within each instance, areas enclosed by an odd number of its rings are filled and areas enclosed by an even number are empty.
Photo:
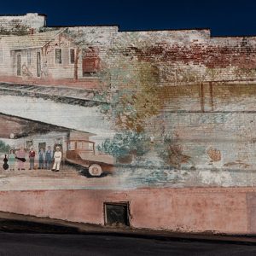
[[[0,26],[5,28],[0,40],[2,77],[6,81],[32,84],[74,84],[80,80],[85,88],[96,86],[97,73],[103,65],[100,60],[106,58],[117,26],[46,27],[44,18],[37,14],[14,16],[12,28],[10,21],[2,17]],[[22,19],[32,22],[22,25]],[[5,26],[6,22],[9,26]],[[18,30],[16,23],[22,29]]]

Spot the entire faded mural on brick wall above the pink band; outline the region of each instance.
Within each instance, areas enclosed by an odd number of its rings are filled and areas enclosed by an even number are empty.
[[[0,19],[0,189],[256,184],[255,37],[44,23]]]

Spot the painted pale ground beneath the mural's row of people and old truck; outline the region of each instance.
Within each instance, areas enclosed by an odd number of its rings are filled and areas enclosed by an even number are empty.
[[[2,166],[1,166],[2,167]],[[0,188],[6,190],[34,189],[111,189],[121,187],[119,178],[111,174],[90,177],[73,166],[61,166],[60,172],[50,170],[9,171],[0,168]]]

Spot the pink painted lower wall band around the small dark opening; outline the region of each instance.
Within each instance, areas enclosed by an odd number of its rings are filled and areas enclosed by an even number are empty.
[[[104,201],[130,201],[133,228],[256,232],[252,188],[1,191],[0,211],[104,224]]]

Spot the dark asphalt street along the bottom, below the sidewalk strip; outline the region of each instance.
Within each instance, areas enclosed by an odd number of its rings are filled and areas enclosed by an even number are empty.
[[[0,255],[256,255],[256,246],[108,235],[0,233]]]

